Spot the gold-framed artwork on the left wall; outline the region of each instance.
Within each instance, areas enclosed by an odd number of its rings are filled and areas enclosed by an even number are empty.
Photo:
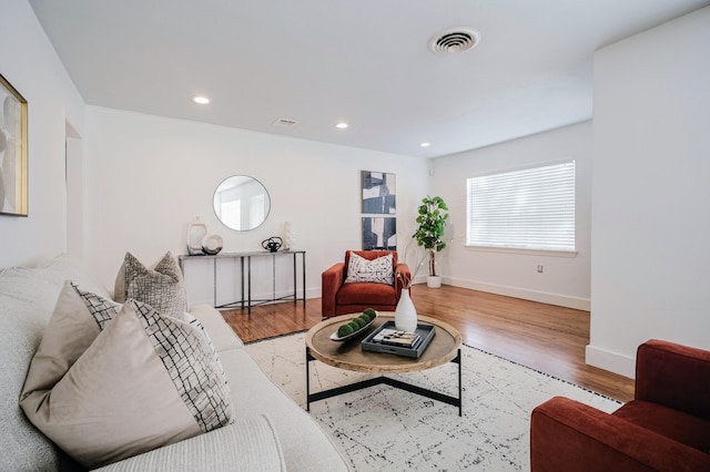
[[[0,75],[0,214],[27,216],[27,100]]]

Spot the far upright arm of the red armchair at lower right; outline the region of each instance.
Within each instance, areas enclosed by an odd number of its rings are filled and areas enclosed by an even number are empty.
[[[710,420],[710,351],[651,339],[638,348],[636,400]]]

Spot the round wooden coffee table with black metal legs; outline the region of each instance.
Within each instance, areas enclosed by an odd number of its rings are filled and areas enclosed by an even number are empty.
[[[312,401],[324,400],[385,383],[458,407],[458,414],[462,415],[462,337],[454,327],[435,318],[417,316],[418,324],[433,325],[436,327],[434,338],[418,359],[363,350],[361,346],[363,339],[386,321],[394,320],[394,312],[390,311],[379,312],[372,326],[355,338],[346,341],[334,341],[331,339],[331,335],[337,331],[337,328],[342,324],[359,315],[361,314],[352,314],[329,318],[317,324],[306,334],[306,410],[311,409]],[[320,360],[338,369],[382,373],[383,376],[349,386],[311,393],[308,366],[310,362],[314,360]],[[416,372],[432,369],[446,362],[456,362],[458,365],[458,397],[447,396],[384,376],[385,373]]]

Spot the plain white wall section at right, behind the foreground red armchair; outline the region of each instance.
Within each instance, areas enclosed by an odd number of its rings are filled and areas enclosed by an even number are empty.
[[[633,376],[661,338],[710,349],[710,7],[595,55],[591,339]]]

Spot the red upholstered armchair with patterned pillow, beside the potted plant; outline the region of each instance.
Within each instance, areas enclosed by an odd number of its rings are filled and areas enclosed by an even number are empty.
[[[374,260],[392,254],[393,284],[367,281],[346,284],[345,278],[347,277],[351,253],[367,260]],[[321,276],[323,317],[329,318],[337,315],[358,312],[368,307],[378,311],[394,311],[402,295],[403,277],[406,280],[412,277],[409,267],[397,260],[397,253],[394,250],[348,250],[345,253],[343,263],[336,263],[323,271]]]

